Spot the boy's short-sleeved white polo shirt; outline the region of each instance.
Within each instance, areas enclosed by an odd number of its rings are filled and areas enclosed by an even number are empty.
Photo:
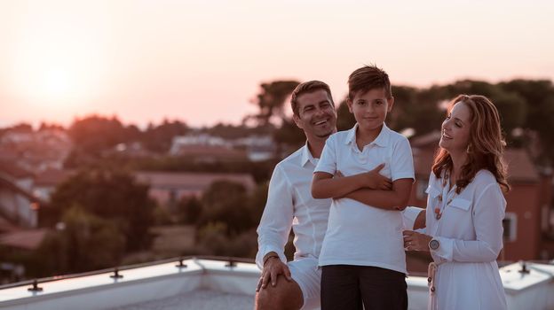
[[[381,174],[392,181],[414,179],[412,151],[405,136],[383,125],[376,139],[356,145],[356,124],[337,132],[325,143],[315,172],[360,174],[384,163]],[[355,265],[406,271],[402,213],[364,205],[350,198],[333,199],[320,266]]]

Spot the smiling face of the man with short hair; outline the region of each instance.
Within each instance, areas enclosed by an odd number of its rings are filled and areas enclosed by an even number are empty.
[[[304,130],[308,141],[327,139],[336,132],[336,111],[325,89],[317,89],[297,97],[298,115],[293,116],[298,128]]]

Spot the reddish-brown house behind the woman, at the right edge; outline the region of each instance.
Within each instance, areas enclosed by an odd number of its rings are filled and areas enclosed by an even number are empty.
[[[410,141],[415,184],[409,205],[426,205],[425,190],[439,139],[437,131]],[[508,164],[511,190],[505,195],[504,248],[499,260],[551,259],[554,253],[542,249],[542,235],[551,227],[551,176],[541,174],[524,150],[507,149],[503,160]]]

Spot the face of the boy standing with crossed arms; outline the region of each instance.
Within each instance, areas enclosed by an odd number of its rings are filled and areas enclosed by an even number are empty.
[[[373,131],[383,125],[386,114],[391,112],[394,105],[394,97],[387,98],[384,88],[369,89],[366,93],[359,91],[347,103],[360,129]]]

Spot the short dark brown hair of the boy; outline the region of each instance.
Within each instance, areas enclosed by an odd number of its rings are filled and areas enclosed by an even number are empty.
[[[391,81],[389,74],[383,69],[371,66],[362,66],[348,77],[348,99],[353,100],[358,92],[365,94],[371,89],[384,89],[387,98],[392,98]]]

